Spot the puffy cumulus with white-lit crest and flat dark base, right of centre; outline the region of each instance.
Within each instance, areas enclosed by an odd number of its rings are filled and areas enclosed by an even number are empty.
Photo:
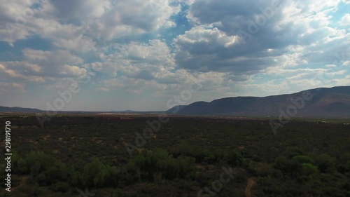
[[[217,28],[193,28],[174,39],[176,63],[200,72],[256,73],[273,62],[271,57],[253,57],[239,36],[228,36]],[[253,47],[253,46],[251,46]]]

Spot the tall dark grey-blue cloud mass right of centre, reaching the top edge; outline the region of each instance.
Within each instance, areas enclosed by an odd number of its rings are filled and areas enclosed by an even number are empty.
[[[193,28],[174,39],[176,63],[200,72],[239,73],[257,73],[275,64],[272,56],[295,42],[290,25],[276,28],[282,6],[279,1],[195,1],[189,17],[214,28]],[[269,48],[281,51],[267,53]]]

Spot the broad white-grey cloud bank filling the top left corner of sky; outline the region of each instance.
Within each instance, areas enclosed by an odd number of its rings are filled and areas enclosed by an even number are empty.
[[[45,2],[42,3],[42,2]],[[93,39],[110,41],[120,36],[144,34],[174,27],[170,17],[180,6],[170,1],[25,1],[0,6],[1,41],[13,46],[19,39],[38,34],[55,46],[87,52],[95,50]],[[157,5],[156,11],[151,11]]]

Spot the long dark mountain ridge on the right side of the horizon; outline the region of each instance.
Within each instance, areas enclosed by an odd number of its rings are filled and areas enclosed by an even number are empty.
[[[280,116],[287,113],[299,117],[348,117],[350,118],[350,86],[316,88],[308,90],[310,100],[304,100],[303,92],[267,97],[225,97],[212,102],[194,102],[183,107],[176,114],[188,115],[230,115],[230,116]],[[291,100],[299,98],[299,106]],[[298,102],[296,102],[298,103]],[[281,112],[282,111],[282,112]]]

